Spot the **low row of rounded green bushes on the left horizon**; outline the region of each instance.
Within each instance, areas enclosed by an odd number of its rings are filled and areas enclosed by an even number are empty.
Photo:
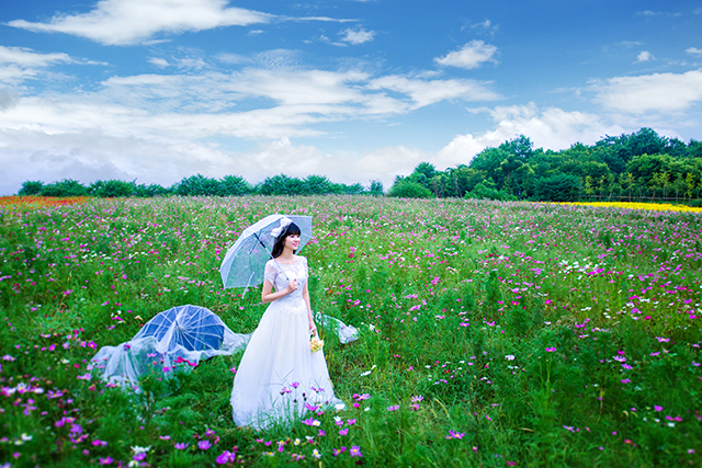
[[[97,196],[97,197],[154,197],[154,196],[233,196],[233,195],[382,195],[383,183],[372,181],[367,187],[360,183],[343,184],[331,182],[324,175],[309,175],[305,179],[284,174],[274,175],[252,185],[239,175],[225,175],[222,179],[206,178],[202,174],[183,178],[169,187],[159,184],[137,184],[121,180],[97,181],[83,185],[72,179],[45,184],[42,181],[26,181],[19,195],[38,196]]]

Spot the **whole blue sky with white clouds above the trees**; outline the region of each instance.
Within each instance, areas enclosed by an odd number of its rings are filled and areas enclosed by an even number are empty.
[[[652,127],[702,139],[702,0],[11,0],[0,194],[336,182]]]

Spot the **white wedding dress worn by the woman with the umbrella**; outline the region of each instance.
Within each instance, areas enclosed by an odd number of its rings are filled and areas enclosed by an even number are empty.
[[[275,290],[297,278],[298,288],[271,303],[244,353],[234,378],[231,411],[237,425],[265,429],[303,416],[316,407],[342,408],[335,397],[324,351],[312,353],[309,319],[303,299],[307,259],[280,264],[269,260],[265,279]]]

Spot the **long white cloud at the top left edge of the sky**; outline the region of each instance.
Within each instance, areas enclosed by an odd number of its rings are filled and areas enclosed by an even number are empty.
[[[203,31],[267,23],[274,16],[227,7],[226,0],[101,0],[82,14],[59,14],[47,23],[8,24],[34,32],[66,33],[106,45],[134,44],[157,33]]]

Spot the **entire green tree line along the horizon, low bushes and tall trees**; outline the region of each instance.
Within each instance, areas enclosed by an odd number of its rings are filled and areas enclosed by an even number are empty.
[[[466,156],[466,160],[469,156]],[[231,196],[231,195],[382,195],[383,183],[331,182],[324,175],[305,179],[274,175],[250,184],[239,175],[222,179],[201,174],[169,187],[136,181],[97,181],[83,185],[72,179],[45,184],[26,181],[20,195],[42,196]],[[595,145],[576,142],[559,151],[534,148],[521,135],[497,148],[486,148],[458,164],[438,171],[419,163],[407,176],[397,175],[388,195],[398,197],[467,197],[488,199],[669,201],[702,205],[702,142],[667,138],[650,128],[604,136]]]

